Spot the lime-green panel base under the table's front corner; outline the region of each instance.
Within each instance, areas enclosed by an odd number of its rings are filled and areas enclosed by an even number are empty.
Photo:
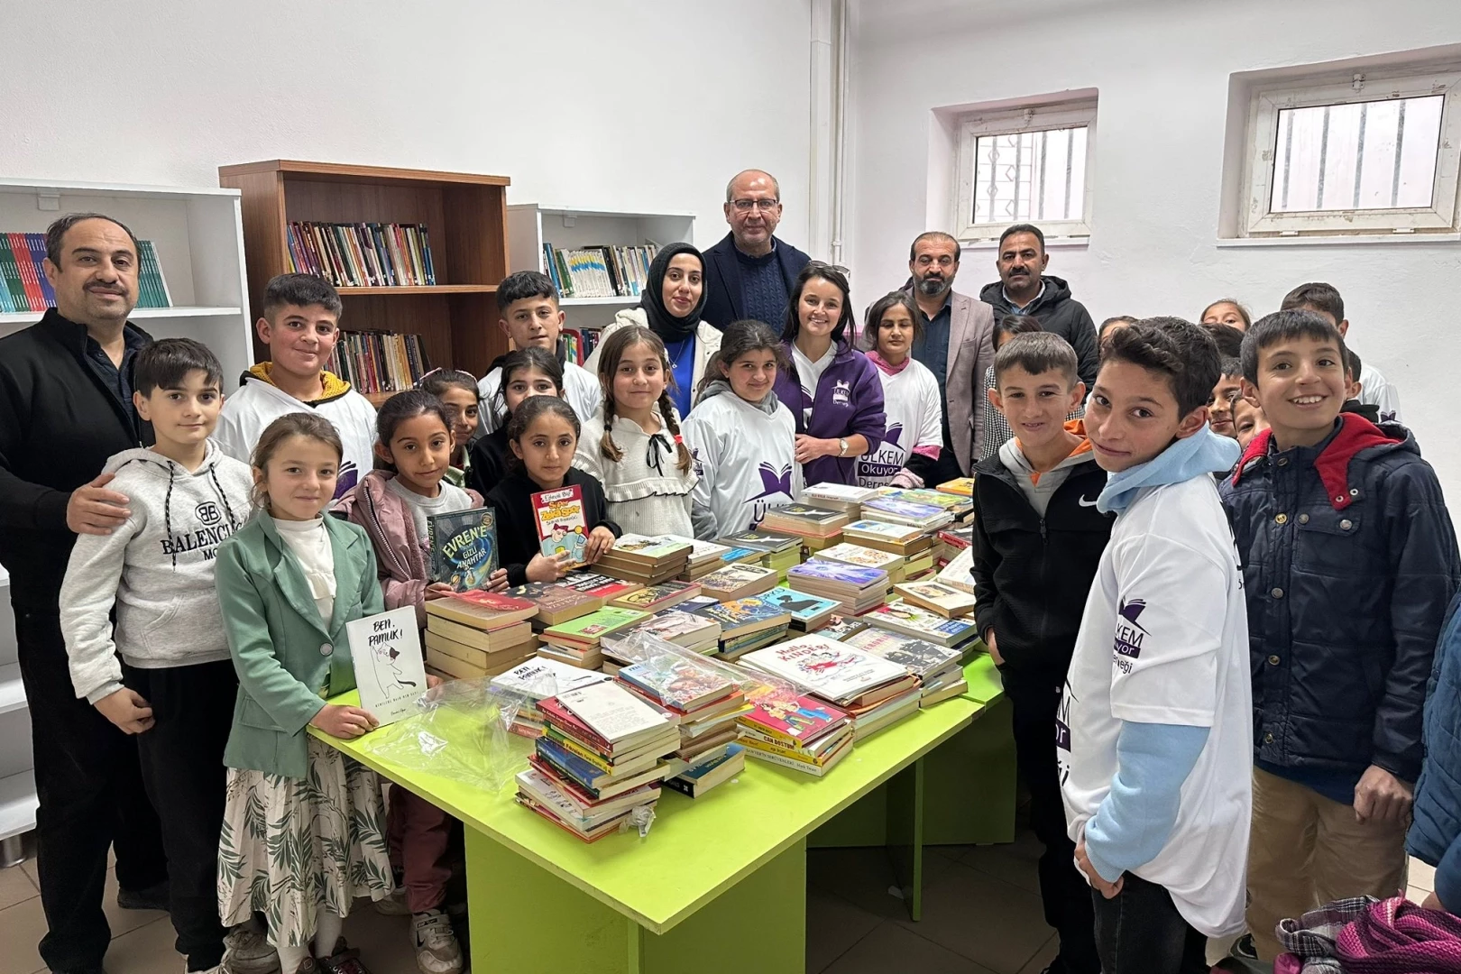
[[[466,882],[476,971],[801,974],[806,964],[805,843],[663,935],[470,827]]]

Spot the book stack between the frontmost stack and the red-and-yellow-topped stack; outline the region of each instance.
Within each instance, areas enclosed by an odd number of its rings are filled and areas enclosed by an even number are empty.
[[[738,682],[707,662],[669,654],[625,666],[618,680],[679,727],[679,749],[665,777],[669,787],[698,797],[745,767],[745,755],[732,752],[736,718],[751,711]]]

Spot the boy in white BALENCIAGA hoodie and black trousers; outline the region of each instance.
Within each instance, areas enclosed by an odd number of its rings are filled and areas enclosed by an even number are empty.
[[[133,403],[156,445],[107,461],[112,489],[130,498],[127,520],[110,534],[76,539],[61,628],[76,695],[139,735],[143,783],[162,822],[177,949],[188,971],[209,971],[224,959],[218,834],[238,688],[213,556],[248,518],[253,476],[207,438],[224,396],[222,367],[206,346],[162,339],[137,352],[134,369]]]

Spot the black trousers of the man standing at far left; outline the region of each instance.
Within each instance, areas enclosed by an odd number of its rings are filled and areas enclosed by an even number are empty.
[[[18,605],[15,628],[39,797],[37,869],[50,927],[41,958],[57,974],[101,970],[111,942],[101,910],[107,850],[117,850],[123,889],[165,881],[158,816],[142,787],[137,743],[72,689],[56,607]]]

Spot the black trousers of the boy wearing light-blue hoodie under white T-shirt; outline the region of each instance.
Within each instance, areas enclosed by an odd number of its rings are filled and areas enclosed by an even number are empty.
[[[1126,873],[1121,892],[1096,904],[1105,974],[1207,974],[1207,937],[1182,919],[1166,886]]]

